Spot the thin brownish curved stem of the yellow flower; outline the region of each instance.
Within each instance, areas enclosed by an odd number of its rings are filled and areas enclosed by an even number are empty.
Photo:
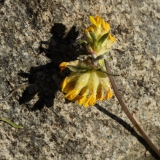
[[[110,67],[109,67],[109,64],[107,62],[107,60],[105,59],[104,60],[105,62],[105,66],[106,66],[106,69],[107,69],[107,72],[111,73],[111,70],[110,70]],[[139,126],[139,124],[136,122],[136,120],[133,118],[133,116],[131,115],[131,113],[129,112],[128,108],[126,107],[126,105],[124,104],[120,94],[119,94],[119,91],[118,91],[118,88],[116,86],[116,83],[112,77],[112,75],[108,75],[109,79],[110,79],[110,82],[112,84],[112,88],[114,90],[114,93],[123,109],[123,111],[125,112],[125,114],[127,115],[127,117],[129,118],[129,120],[133,123],[133,125],[136,127],[136,129],[139,131],[139,133],[141,134],[141,136],[144,138],[144,140],[148,143],[148,145],[155,151],[155,153],[160,157],[160,151],[157,149],[157,147],[152,143],[152,141],[149,139],[149,137],[145,134],[145,132],[143,131],[143,129]]]

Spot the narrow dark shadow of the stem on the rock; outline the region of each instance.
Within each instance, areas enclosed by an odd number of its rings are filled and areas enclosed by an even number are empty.
[[[103,107],[99,106],[98,104],[95,105],[95,107],[103,112],[104,114],[106,114],[107,116],[109,116],[110,118],[112,118],[113,120],[115,120],[117,123],[119,123],[120,125],[122,125],[126,130],[128,130],[134,137],[137,138],[137,140],[146,148],[146,150],[148,150],[150,152],[150,154],[155,158],[155,159],[159,159],[160,157],[153,151],[153,149],[148,145],[148,143],[125,121],[123,121],[121,118],[117,117],[116,115],[114,115],[113,113],[107,111],[106,109],[104,109]]]

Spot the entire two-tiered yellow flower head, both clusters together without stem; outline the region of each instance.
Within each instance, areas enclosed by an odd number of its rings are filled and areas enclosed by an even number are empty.
[[[110,33],[110,25],[99,16],[90,16],[90,22],[92,25],[85,29],[86,40],[82,42],[92,57],[60,64],[61,71],[66,67],[72,71],[61,84],[65,98],[84,107],[113,96],[109,78],[103,70],[103,56],[100,55],[108,52],[116,39]]]

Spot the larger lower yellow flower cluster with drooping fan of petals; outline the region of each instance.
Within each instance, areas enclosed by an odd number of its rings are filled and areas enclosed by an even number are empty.
[[[108,76],[94,69],[85,73],[71,72],[64,79],[61,87],[66,93],[66,99],[84,107],[94,105],[97,100],[109,99],[113,96]]]

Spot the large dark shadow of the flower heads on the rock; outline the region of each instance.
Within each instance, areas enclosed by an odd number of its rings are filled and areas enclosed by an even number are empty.
[[[19,104],[31,101],[34,96],[38,96],[31,110],[41,110],[44,106],[51,107],[54,104],[55,93],[60,89],[60,83],[69,70],[60,73],[59,64],[76,60],[79,46],[76,44],[76,38],[79,32],[73,26],[65,35],[66,27],[63,24],[56,23],[51,28],[52,37],[50,41],[42,41],[39,47],[39,54],[48,57],[51,62],[31,67],[29,73],[21,71],[19,76],[27,78],[28,84],[22,96],[19,98]]]

